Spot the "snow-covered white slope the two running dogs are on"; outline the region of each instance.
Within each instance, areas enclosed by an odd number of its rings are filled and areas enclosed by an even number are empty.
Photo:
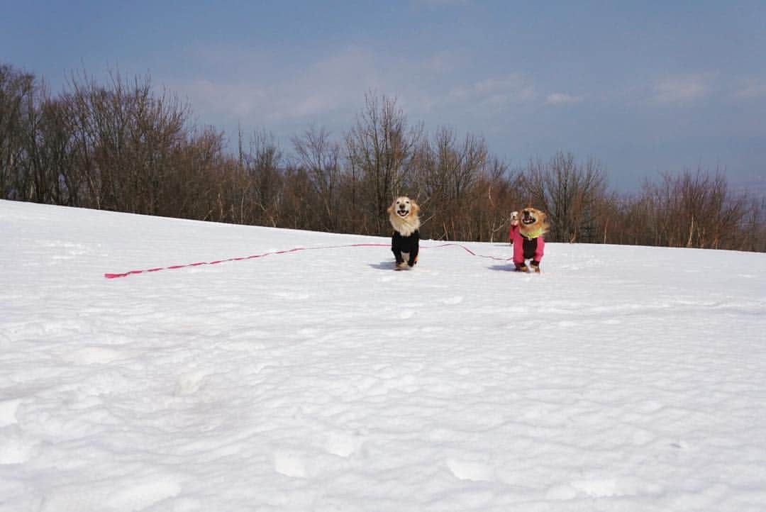
[[[766,510],[764,254],[103,276],[352,243],[0,201],[0,510]]]

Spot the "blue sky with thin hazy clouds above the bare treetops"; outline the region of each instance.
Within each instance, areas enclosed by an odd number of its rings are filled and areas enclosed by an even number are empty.
[[[61,90],[149,75],[198,125],[290,148],[340,138],[365,93],[428,132],[483,135],[512,167],[557,151],[614,188],[725,168],[766,182],[766,2],[4,2],[0,62]]]

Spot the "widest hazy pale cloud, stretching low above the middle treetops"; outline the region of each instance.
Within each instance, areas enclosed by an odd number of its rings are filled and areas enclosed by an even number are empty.
[[[417,57],[378,54],[366,46],[349,46],[303,62],[283,52],[218,47],[198,51],[194,77],[164,80],[186,97],[204,124],[266,128],[290,135],[318,125],[333,132],[352,126],[369,90],[395,98],[411,122],[464,122],[496,117],[508,109],[545,102],[525,73],[508,73],[473,82],[461,72],[473,61],[461,51]],[[288,62],[289,65],[285,65]],[[461,80],[461,85],[456,85]],[[578,101],[555,93],[549,103]],[[434,120],[436,119],[436,120]]]

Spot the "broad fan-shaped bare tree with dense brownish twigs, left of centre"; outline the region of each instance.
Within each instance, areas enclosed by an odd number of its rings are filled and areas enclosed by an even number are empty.
[[[84,166],[90,195],[96,207],[155,214],[168,158],[188,136],[188,106],[156,96],[149,77],[110,78],[107,87],[71,80],[78,144],[91,159]]]

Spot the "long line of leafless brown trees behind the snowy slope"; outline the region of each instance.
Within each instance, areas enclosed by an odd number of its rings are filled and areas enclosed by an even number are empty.
[[[548,240],[766,251],[766,203],[732,194],[721,171],[609,191],[607,172],[560,152],[521,168],[483,138],[442,127],[428,135],[396,99],[368,93],[336,137],[310,128],[283,151],[268,132],[199,129],[191,109],[149,77],[73,75],[51,94],[0,65],[0,198],[227,223],[383,235],[399,194],[421,204],[423,236],[505,241],[509,213],[548,213]]]

